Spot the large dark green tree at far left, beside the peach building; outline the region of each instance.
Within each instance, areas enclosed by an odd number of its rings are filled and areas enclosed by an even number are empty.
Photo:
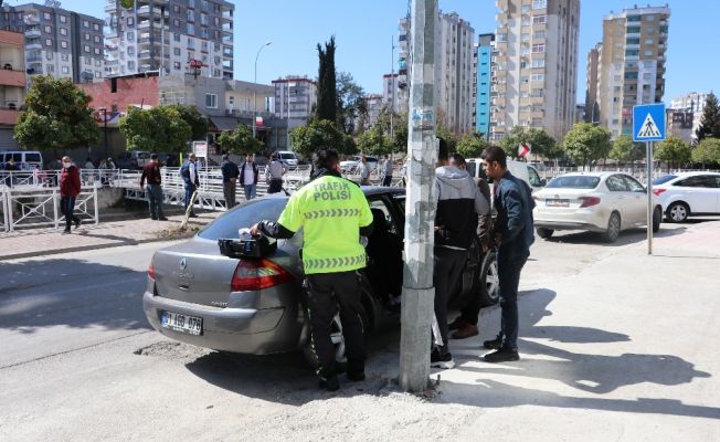
[[[96,144],[100,129],[93,118],[91,101],[70,78],[33,76],[25,110],[20,113],[14,127],[18,144],[23,148],[55,151]]]

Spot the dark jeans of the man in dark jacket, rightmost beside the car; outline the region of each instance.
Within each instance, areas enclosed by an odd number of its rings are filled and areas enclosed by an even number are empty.
[[[518,349],[518,286],[520,272],[528,256],[504,260],[498,257],[498,278],[500,280],[501,325],[499,338],[502,347]]]

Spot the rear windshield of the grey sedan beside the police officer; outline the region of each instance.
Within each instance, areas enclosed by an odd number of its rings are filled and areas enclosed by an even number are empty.
[[[237,230],[250,228],[262,220],[277,221],[287,198],[260,198],[241,204],[230,212],[218,217],[218,219],[198,233],[198,236],[205,240],[218,240],[221,238],[240,238]]]

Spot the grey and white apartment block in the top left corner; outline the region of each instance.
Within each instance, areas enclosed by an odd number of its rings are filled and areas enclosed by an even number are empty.
[[[50,74],[73,82],[103,76],[103,20],[38,3],[6,6],[0,29],[24,34],[29,74]]]

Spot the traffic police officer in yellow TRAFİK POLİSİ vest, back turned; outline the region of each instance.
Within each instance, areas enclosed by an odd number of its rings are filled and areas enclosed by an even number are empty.
[[[310,182],[290,197],[277,222],[261,221],[251,232],[286,239],[303,228],[311,349],[318,360],[320,387],[333,391],[339,383],[330,327],[338,306],[348,378],[364,379],[358,271],[366,266],[360,235],[371,233],[372,213],[360,188],[340,175],[337,151],[321,149],[314,155],[313,161],[315,173]]]

